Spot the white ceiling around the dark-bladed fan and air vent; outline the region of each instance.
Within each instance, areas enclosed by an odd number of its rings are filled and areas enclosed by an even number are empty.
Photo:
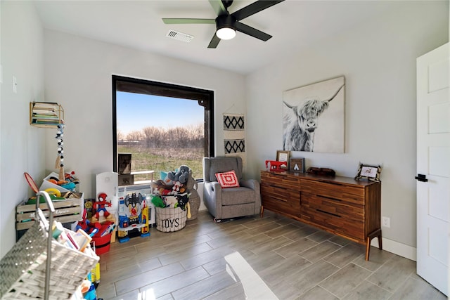
[[[234,1],[233,13],[253,1]],[[368,18],[378,18],[402,1],[286,0],[241,22],[271,34],[260,41],[238,32],[207,48],[215,25],[165,25],[161,18],[212,18],[207,0],[34,1],[44,27],[99,41],[248,74]],[[404,1],[403,1],[404,3]],[[169,30],[194,36],[190,43],[166,37]]]

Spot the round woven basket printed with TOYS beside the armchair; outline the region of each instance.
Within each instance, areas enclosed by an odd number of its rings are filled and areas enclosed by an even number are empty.
[[[179,207],[155,207],[156,229],[163,233],[172,233],[186,226],[186,211]]]

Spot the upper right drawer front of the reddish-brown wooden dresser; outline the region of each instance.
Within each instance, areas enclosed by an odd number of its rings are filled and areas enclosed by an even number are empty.
[[[357,185],[303,180],[302,192],[364,205],[364,188]]]

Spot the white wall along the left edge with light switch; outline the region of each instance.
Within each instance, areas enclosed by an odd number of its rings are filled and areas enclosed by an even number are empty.
[[[23,173],[44,176],[44,133],[30,126],[29,103],[44,100],[43,31],[29,1],[1,1],[0,257],[15,243],[15,206],[32,195]],[[13,76],[18,92],[13,93]]]

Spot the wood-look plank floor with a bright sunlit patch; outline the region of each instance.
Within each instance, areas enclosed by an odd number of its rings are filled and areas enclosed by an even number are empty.
[[[175,233],[111,244],[98,298],[446,299],[416,263],[264,211],[214,223],[207,211]]]

